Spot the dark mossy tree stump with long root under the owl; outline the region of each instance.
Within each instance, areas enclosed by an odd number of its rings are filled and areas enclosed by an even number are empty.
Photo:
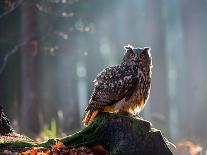
[[[44,143],[4,143],[0,144],[0,149],[19,150],[21,147],[36,146],[50,148],[56,140],[50,139]],[[88,127],[58,140],[70,147],[92,148],[101,145],[111,154],[117,155],[172,155],[161,132],[152,128],[150,122],[121,114],[100,113]]]

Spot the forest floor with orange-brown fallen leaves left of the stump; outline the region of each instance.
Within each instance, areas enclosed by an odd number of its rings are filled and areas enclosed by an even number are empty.
[[[43,144],[49,144],[45,147]],[[8,144],[8,145],[7,145]],[[31,146],[29,145],[31,144]],[[110,154],[102,146],[97,145],[93,148],[89,147],[69,147],[65,146],[61,140],[50,139],[48,141],[35,141],[26,136],[11,133],[8,135],[0,136],[0,145],[3,149],[0,149],[0,154],[3,155],[52,155],[52,154],[81,154],[81,155],[93,155],[93,154]],[[8,147],[7,147],[7,146]],[[16,145],[16,146],[15,146]],[[25,147],[24,147],[25,145]]]

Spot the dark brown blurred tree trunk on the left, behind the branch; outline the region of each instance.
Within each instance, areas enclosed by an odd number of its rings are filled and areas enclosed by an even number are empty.
[[[36,33],[35,6],[25,1],[22,6],[22,39],[27,44],[22,48],[22,91],[20,130],[24,133],[39,133],[40,108],[38,101],[38,41]],[[31,115],[32,112],[32,115]]]

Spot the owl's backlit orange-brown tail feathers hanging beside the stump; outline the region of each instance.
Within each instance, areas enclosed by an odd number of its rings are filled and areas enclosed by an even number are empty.
[[[98,114],[98,110],[88,110],[86,111],[85,115],[83,116],[82,122],[84,123],[85,126],[88,126],[91,124],[93,119],[96,117]]]

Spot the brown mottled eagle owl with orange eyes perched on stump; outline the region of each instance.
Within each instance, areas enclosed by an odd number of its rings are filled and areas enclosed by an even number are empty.
[[[137,114],[150,93],[152,57],[149,47],[124,47],[121,64],[101,71],[94,80],[94,90],[83,116],[88,126],[99,112]]]

